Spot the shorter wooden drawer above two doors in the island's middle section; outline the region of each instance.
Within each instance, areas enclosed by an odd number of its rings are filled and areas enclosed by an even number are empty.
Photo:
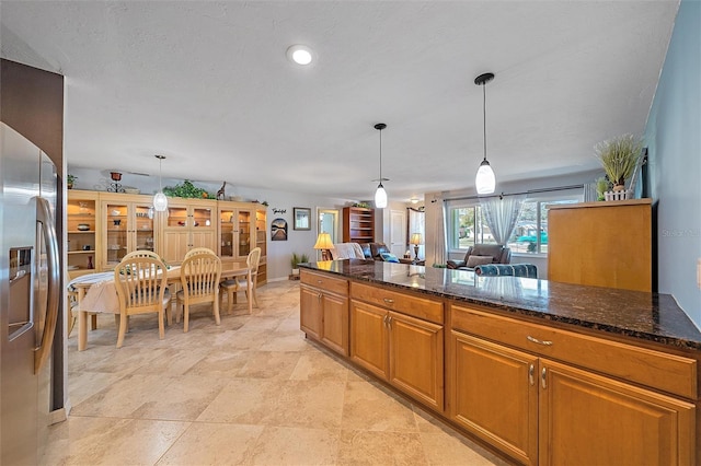
[[[350,283],[350,298],[436,324],[444,323],[443,302],[439,301],[355,282]]]

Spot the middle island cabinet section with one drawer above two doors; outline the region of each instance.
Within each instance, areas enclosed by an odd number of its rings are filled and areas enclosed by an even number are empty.
[[[355,282],[350,290],[350,359],[443,411],[443,303]]]

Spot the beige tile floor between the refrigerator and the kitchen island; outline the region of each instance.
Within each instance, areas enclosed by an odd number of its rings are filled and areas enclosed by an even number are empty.
[[[241,301],[245,299],[242,296]],[[308,342],[299,284],[258,290],[261,308],[214,324],[210,307],[158,339],[136,316],[116,349],[111,315],[88,349],[69,339],[72,410],[48,465],[503,465],[418,407]]]

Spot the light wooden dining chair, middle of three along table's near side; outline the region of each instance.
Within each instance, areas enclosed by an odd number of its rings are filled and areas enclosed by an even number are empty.
[[[193,304],[211,303],[215,322],[217,325],[221,323],[219,317],[220,278],[221,259],[212,251],[185,256],[180,269],[183,289],[176,294],[177,304],[182,304],[184,331],[187,331],[189,326],[189,306]],[[177,322],[180,322],[180,314]]]

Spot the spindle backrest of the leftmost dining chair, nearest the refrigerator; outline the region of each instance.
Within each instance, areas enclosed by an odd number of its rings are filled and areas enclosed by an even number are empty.
[[[168,288],[165,265],[152,257],[125,257],[114,269],[114,284],[119,299],[119,311],[158,311],[163,306]]]

